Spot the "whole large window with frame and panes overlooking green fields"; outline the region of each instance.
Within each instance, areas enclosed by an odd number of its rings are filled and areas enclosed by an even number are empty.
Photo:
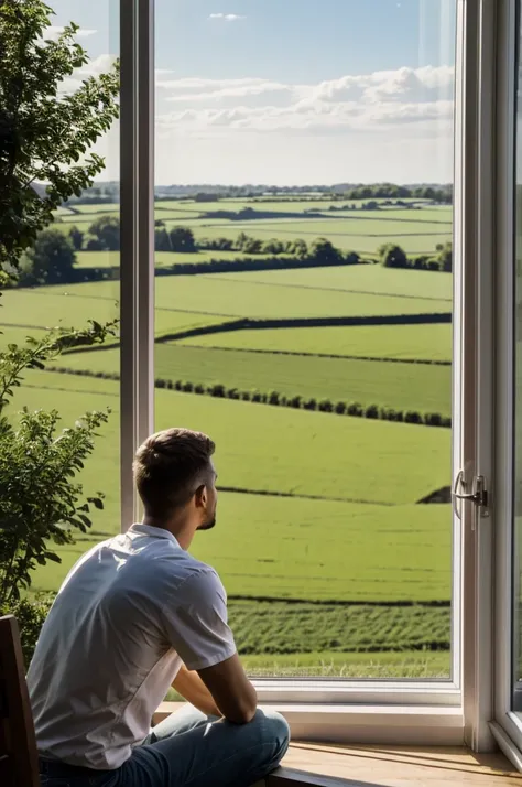
[[[117,6],[75,4],[95,64],[119,50]],[[2,298],[3,342],[121,314],[119,349],[68,354],[19,399],[70,418],[110,400],[89,539],[135,516],[154,425],[216,440],[219,526],[196,553],[295,736],[483,750],[494,718],[522,751],[519,6],[132,0],[120,149],[56,222],[93,235],[120,213],[121,282],[118,250],[91,245],[74,269],[101,280]]]

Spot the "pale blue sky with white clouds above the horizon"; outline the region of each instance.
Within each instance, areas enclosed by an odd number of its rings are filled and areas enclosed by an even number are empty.
[[[50,3],[54,28],[80,25],[78,79],[107,68],[117,0]],[[156,184],[453,180],[456,0],[155,8]],[[117,180],[117,128],[97,150]]]

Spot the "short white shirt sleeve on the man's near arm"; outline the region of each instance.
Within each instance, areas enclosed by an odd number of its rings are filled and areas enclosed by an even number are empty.
[[[214,667],[236,654],[227,595],[213,569],[185,580],[162,613],[168,640],[187,669]]]

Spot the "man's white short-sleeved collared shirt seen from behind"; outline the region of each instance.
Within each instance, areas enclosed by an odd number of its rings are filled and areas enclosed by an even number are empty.
[[[62,585],[28,673],[40,754],[112,769],[150,731],[182,661],[236,653],[217,573],[161,528],[133,525]]]

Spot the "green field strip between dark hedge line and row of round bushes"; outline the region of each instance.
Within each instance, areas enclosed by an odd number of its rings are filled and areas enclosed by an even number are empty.
[[[68,353],[58,365],[70,369],[117,373],[119,349]],[[222,382],[239,390],[276,390],[287,397],[381,405],[396,410],[439,412],[443,416],[452,412],[449,366],[289,357],[273,353],[261,355],[240,349],[231,352],[215,347],[156,344],[155,375],[195,384]]]

